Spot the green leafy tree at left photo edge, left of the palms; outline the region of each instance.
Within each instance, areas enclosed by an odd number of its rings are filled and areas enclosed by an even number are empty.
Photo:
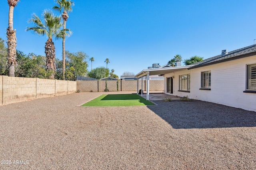
[[[4,40],[0,38],[0,75],[8,75],[7,47],[4,46]]]

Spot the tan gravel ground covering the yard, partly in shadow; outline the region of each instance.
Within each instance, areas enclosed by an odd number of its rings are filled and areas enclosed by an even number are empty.
[[[0,106],[0,169],[256,169],[255,112],[203,101],[76,107],[101,94]]]

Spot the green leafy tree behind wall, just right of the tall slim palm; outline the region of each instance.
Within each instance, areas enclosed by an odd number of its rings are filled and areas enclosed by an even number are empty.
[[[76,75],[85,76],[88,73],[87,58],[88,55],[83,51],[76,53],[66,51],[66,79],[75,81]]]

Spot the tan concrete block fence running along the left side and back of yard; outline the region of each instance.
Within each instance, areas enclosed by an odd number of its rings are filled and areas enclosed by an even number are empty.
[[[147,81],[142,81],[142,89],[146,91]],[[117,81],[107,81],[109,91],[117,91]],[[106,89],[106,81],[64,81],[26,77],[8,77],[0,75],[0,105],[53,97],[81,92],[102,92]],[[141,81],[139,81],[141,89]],[[136,91],[136,80],[119,80],[118,91]],[[163,91],[164,80],[150,80],[150,91]]]

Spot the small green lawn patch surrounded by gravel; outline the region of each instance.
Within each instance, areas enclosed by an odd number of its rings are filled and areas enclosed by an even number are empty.
[[[101,95],[82,106],[145,106],[154,105],[136,94]]]

